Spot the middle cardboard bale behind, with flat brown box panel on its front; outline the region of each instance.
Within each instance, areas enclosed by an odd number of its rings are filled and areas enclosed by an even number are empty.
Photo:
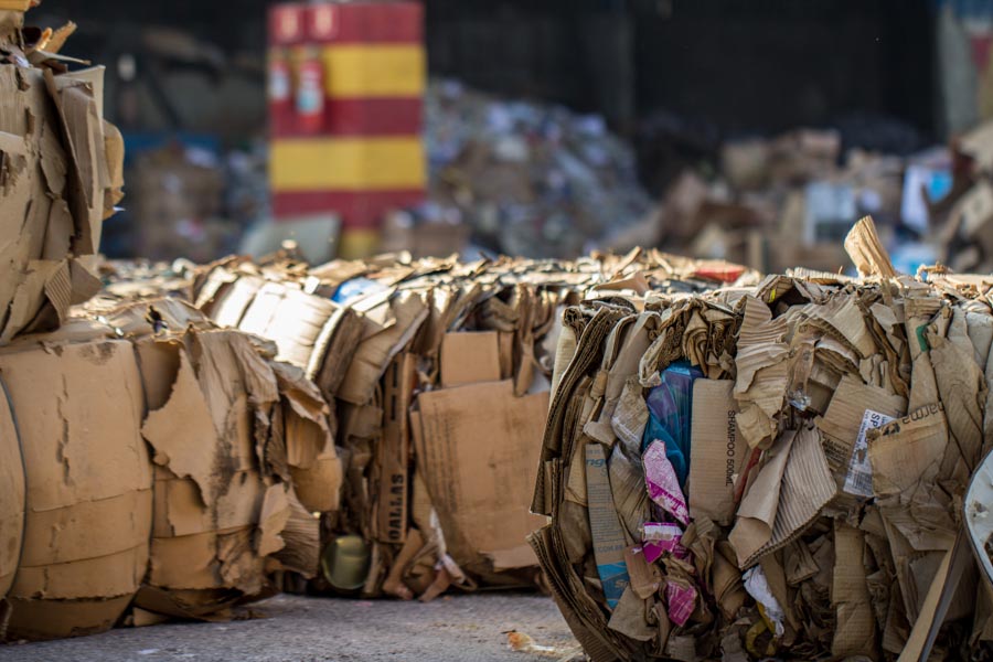
[[[311,269],[238,259],[194,289],[213,319],[271,339],[335,404],[346,465],[341,506],[317,509],[324,588],[428,599],[538,577],[524,536],[543,523],[527,505],[564,307],[606,280],[693,292],[743,274],[638,252]]]

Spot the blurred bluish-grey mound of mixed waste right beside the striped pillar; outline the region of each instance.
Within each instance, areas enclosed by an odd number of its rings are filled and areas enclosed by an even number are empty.
[[[447,255],[469,229],[494,253],[574,258],[652,211],[633,151],[598,116],[435,79],[425,142],[429,202],[387,220],[386,250],[421,238],[415,255]]]

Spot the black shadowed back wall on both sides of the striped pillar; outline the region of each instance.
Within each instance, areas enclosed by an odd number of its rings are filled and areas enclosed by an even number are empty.
[[[169,25],[256,60],[265,0],[46,0],[81,25],[72,53],[111,64],[142,25]],[[430,67],[509,96],[600,111],[630,132],[665,111],[722,135],[853,114],[935,128],[927,0],[425,0]],[[253,74],[253,71],[255,72]],[[254,76],[254,77],[253,77]],[[180,103],[182,103],[180,100]],[[113,114],[113,109],[110,109]],[[255,121],[255,120],[253,120]]]

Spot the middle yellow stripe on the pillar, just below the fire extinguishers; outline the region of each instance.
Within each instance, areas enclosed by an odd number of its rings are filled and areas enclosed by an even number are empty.
[[[275,140],[269,181],[282,193],[421,189],[427,182],[424,146],[416,136]]]

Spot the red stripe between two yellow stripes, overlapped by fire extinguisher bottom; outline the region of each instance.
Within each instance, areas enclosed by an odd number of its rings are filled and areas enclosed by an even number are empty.
[[[381,99],[324,99],[322,126],[301,126],[292,103],[269,104],[271,138],[307,136],[415,136],[420,134],[423,106],[419,97]]]

